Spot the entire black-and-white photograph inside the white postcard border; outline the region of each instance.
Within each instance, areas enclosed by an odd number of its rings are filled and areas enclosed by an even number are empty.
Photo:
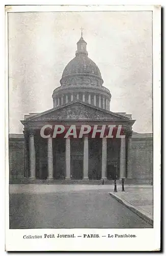
[[[153,228],[152,43],[152,11],[8,13],[10,229]]]

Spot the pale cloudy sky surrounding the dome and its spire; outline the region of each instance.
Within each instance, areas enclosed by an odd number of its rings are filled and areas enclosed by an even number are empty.
[[[9,133],[22,133],[24,114],[53,107],[81,27],[110,111],[132,114],[133,131],[152,132],[152,12],[100,11],[8,14]]]

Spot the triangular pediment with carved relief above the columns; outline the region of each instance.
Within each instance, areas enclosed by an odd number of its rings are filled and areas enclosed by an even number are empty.
[[[79,100],[72,101],[68,104],[60,106],[59,108],[54,108],[37,114],[35,116],[29,117],[26,120],[118,120],[118,119],[127,119],[122,115],[103,110],[91,104],[81,102]]]

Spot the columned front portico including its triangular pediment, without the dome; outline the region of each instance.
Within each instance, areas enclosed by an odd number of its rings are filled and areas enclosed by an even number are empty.
[[[133,120],[120,115],[116,115],[115,119],[113,113],[91,106],[91,114],[94,110],[95,114],[97,110],[100,111],[100,115],[103,115],[103,121],[90,119],[89,116],[87,116],[87,119],[80,121],[76,116],[76,110],[80,110],[78,113],[80,116],[81,109],[84,109],[86,114],[87,107],[89,108],[89,104],[76,100],[60,107],[59,110],[51,110],[42,115],[26,117],[22,121],[25,144],[27,145],[25,156],[28,158],[25,162],[29,162],[29,166],[27,164],[25,166],[25,169],[28,169],[26,175],[31,179],[57,180],[106,180],[114,179],[115,175],[117,175],[117,178],[130,177],[131,166],[128,158],[131,152],[131,125]],[[63,114],[68,115],[69,109],[73,111],[72,120],[70,118],[64,120]],[[57,115],[60,113],[63,121],[58,119]],[[73,138],[73,136],[65,138],[63,134],[53,138],[53,133],[50,133],[48,138],[42,138],[40,135],[40,129],[46,123],[52,125],[61,123],[65,127],[75,123],[77,130],[80,131],[81,124],[94,126],[98,123],[98,126],[102,126],[113,122],[115,125],[124,123],[125,138],[114,138],[114,136],[112,136],[113,138],[107,138],[107,135],[100,138],[100,134],[92,138],[92,133],[86,134],[82,138]],[[115,163],[117,163],[116,169],[114,167]]]

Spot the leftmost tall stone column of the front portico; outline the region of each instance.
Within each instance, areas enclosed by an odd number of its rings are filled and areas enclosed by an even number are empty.
[[[36,173],[35,173],[35,144],[34,144],[34,134],[35,131],[30,132],[29,136],[29,152],[30,152],[30,178],[35,179]]]

